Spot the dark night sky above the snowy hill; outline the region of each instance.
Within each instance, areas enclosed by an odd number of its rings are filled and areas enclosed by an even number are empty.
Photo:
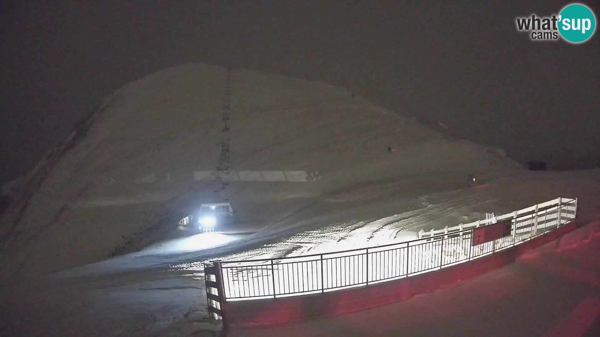
[[[517,16],[568,2],[56,3],[2,4],[0,183],[31,169],[106,95],[187,62],[343,86],[521,162],[600,155],[599,28],[580,45],[536,43],[515,28]],[[600,7],[583,3],[598,19]]]

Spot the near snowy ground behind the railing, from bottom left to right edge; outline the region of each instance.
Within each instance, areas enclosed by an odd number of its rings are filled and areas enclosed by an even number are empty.
[[[410,197],[398,197],[400,201],[392,205],[395,198],[386,197],[385,191],[361,191],[361,197],[370,195],[387,200],[389,205],[378,203],[371,212],[364,212],[376,221],[349,221],[325,225],[319,230],[303,223],[295,228],[267,228],[225,246],[218,246],[223,243],[220,239],[227,239],[224,234],[198,234],[0,287],[5,304],[0,306],[0,316],[4,318],[0,320],[0,330],[4,323],[8,331],[14,331],[6,333],[11,336],[80,336],[82,332],[93,336],[196,336],[192,332],[206,329],[201,322],[208,318],[202,266],[207,259],[272,258],[391,243],[385,242],[388,233],[405,225],[442,228],[482,218],[485,212],[508,213],[548,200],[550,195],[577,195],[578,222],[599,221],[600,170],[508,173],[511,176],[493,179],[476,188],[422,195],[416,198],[416,207],[411,205],[415,200]],[[431,177],[431,181],[443,182],[440,177]],[[401,190],[401,186],[392,188]],[[391,216],[392,222],[379,218],[380,210],[385,214],[388,206],[394,206],[391,209],[399,213]],[[322,223],[338,216],[338,212],[327,212],[328,209],[311,207],[310,210],[310,215],[317,215]],[[400,234],[415,234],[411,232]],[[394,242],[403,239],[406,238],[399,236]],[[215,247],[207,247],[211,245]],[[178,252],[202,247],[205,249]]]

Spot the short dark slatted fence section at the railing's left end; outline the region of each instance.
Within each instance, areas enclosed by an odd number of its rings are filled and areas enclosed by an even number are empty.
[[[223,329],[226,329],[225,293],[223,291],[223,273],[221,270],[221,261],[204,263],[208,314],[213,320],[223,320]]]

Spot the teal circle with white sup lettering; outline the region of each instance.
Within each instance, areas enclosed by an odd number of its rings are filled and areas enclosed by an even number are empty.
[[[581,4],[571,4],[559,14],[560,35],[571,43],[586,41],[596,30],[596,17],[592,10]]]

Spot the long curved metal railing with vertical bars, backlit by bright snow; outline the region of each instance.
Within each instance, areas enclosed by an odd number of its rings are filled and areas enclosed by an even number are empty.
[[[220,261],[224,297],[241,300],[320,293],[405,278],[464,263],[518,245],[572,221],[577,212],[577,198],[557,198],[532,207],[497,216],[496,220],[510,219],[510,235],[479,245],[472,245],[477,225],[363,249],[264,260]]]

